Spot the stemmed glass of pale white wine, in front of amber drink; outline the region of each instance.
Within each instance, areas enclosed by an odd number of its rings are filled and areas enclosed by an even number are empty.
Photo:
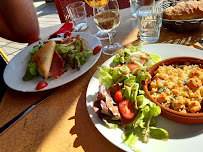
[[[123,49],[122,44],[113,42],[113,30],[120,24],[120,12],[117,0],[107,1],[102,7],[97,7],[93,1],[93,15],[97,28],[109,36],[110,44],[103,47],[103,53],[114,55]]]

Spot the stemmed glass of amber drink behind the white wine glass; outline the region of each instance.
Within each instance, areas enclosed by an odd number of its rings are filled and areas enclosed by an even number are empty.
[[[93,3],[94,6],[97,8],[102,8],[104,7],[109,0],[85,0],[85,2],[90,6],[93,7]],[[116,30],[113,31],[113,36],[116,34]],[[108,39],[108,33],[107,32],[103,32],[103,31],[98,31],[96,34],[94,34],[96,37],[98,37],[100,40],[106,40]]]

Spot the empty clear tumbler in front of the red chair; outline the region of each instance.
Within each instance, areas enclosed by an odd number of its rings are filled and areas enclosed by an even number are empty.
[[[74,2],[66,8],[75,30],[84,30],[88,27],[85,2]]]

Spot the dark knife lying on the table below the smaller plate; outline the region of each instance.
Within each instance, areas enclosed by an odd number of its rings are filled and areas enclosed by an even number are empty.
[[[10,126],[12,126],[15,122],[17,122],[20,118],[22,118],[24,115],[26,115],[28,112],[30,112],[33,108],[35,108],[36,106],[38,106],[40,103],[42,103],[43,101],[45,101],[46,99],[48,99],[50,96],[52,96],[59,88],[55,88],[51,91],[51,93],[49,93],[48,95],[46,94],[45,96],[43,96],[42,98],[40,98],[39,100],[37,100],[37,102],[35,102],[34,104],[32,104],[31,106],[29,106],[27,109],[25,109],[23,112],[21,112],[19,115],[17,115],[15,118],[13,118],[12,120],[10,120],[9,122],[7,122],[4,126],[2,126],[0,128],[0,135],[3,134],[3,132],[8,129]]]

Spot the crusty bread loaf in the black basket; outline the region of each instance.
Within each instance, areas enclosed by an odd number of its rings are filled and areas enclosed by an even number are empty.
[[[163,11],[168,20],[191,20],[203,18],[203,1],[180,1]]]

